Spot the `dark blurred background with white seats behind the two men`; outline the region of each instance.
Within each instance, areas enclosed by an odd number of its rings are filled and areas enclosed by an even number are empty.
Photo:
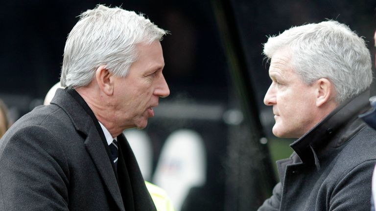
[[[124,133],[145,179],[177,211],[252,211],[271,195],[275,161],[290,155],[292,140],[271,134],[272,110],[262,103],[271,83],[267,36],[334,19],[375,55],[375,0],[2,0],[0,99],[9,124],[43,104],[76,17],[98,3],[170,31],[162,46],[171,95],[147,128]]]

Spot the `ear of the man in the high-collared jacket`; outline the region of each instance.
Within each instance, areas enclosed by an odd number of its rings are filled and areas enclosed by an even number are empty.
[[[334,98],[334,84],[326,78],[321,78],[315,82],[316,84],[316,106],[321,107],[325,105],[331,99]]]

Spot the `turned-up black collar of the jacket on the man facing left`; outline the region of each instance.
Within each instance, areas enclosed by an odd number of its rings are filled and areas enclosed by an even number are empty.
[[[347,100],[331,111],[321,122],[310,129],[300,139],[290,145],[303,163],[315,164],[320,169],[316,151],[326,146],[341,146],[348,138],[361,127],[357,115],[369,109],[370,91],[366,90],[358,96]],[[349,129],[353,123],[354,129]],[[350,134],[351,133],[351,134]],[[341,137],[338,137],[341,136]]]

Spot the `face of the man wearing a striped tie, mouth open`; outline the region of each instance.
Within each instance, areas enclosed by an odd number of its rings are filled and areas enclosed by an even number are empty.
[[[144,128],[154,116],[153,107],[160,97],[170,94],[162,74],[164,59],[159,41],[137,46],[138,60],[132,63],[125,78],[115,78],[116,123],[122,128]]]

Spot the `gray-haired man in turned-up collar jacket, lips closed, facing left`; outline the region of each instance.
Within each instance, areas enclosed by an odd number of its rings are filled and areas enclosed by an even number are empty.
[[[277,162],[280,183],[259,211],[370,210],[376,132],[358,115],[370,108],[371,56],[337,21],[292,27],[270,37],[273,134],[299,138]]]

